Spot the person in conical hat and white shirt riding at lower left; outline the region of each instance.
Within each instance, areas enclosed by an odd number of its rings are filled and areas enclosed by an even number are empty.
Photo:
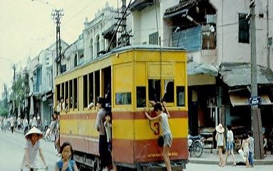
[[[25,155],[22,161],[21,170],[26,170],[28,166],[37,167],[37,153],[39,152],[43,164],[46,166],[46,161],[43,157],[43,151],[41,149],[40,139],[43,138],[43,133],[36,127],[31,128],[25,135],[26,145]]]

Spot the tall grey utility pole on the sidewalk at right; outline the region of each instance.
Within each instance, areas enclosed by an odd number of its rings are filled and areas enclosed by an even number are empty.
[[[257,58],[256,58],[256,26],[255,26],[255,2],[250,5],[250,33],[251,33],[251,96],[256,97],[257,93]],[[264,159],[264,147],[262,143],[262,120],[258,105],[251,106],[252,130],[254,138],[255,159]]]

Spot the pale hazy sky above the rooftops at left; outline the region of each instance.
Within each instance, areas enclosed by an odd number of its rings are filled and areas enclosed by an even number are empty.
[[[63,9],[61,39],[71,44],[105,6],[117,7],[121,0],[0,0],[0,98],[4,83],[11,88],[14,71],[24,69],[27,58],[38,56],[56,41],[53,9]]]

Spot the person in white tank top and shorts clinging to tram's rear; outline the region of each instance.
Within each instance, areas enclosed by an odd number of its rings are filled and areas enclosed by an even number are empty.
[[[147,110],[144,109],[144,113],[148,120],[159,120],[160,121],[160,128],[163,133],[164,138],[164,145],[163,145],[163,159],[165,162],[165,165],[167,167],[168,171],[171,171],[172,168],[170,166],[170,158],[169,158],[169,151],[170,147],[172,146],[172,133],[170,131],[170,126],[168,122],[168,118],[170,118],[170,114],[166,108],[166,103],[163,102],[163,107],[165,108],[166,113],[163,113],[163,108],[160,103],[155,103],[153,106],[153,110],[157,114],[157,116],[151,118],[150,115],[148,115]]]

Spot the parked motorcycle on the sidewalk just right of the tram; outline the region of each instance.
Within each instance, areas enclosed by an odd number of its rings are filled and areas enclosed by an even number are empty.
[[[189,157],[192,152],[195,155],[195,157],[200,157],[202,155],[204,141],[205,141],[205,138],[203,138],[201,135],[197,135],[197,136],[187,135]]]

